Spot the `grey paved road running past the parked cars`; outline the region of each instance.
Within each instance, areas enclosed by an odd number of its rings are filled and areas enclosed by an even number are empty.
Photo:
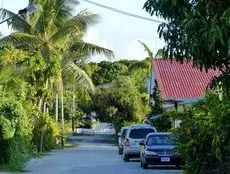
[[[108,137],[107,137],[108,138]],[[103,137],[75,137],[79,147],[55,150],[41,159],[26,164],[28,174],[179,174],[173,168],[143,170],[139,161],[125,163],[118,155],[117,147]],[[102,141],[104,139],[104,141]],[[107,139],[107,140],[106,140]],[[100,141],[98,141],[100,140]],[[110,139],[111,140],[111,139]]]

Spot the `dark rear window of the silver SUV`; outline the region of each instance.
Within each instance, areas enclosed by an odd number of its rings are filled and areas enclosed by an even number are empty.
[[[143,139],[149,133],[155,132],[154,129],[151,128],[139,128],[139,129],[132,129],[130,131],[129,137],[133,139]]]

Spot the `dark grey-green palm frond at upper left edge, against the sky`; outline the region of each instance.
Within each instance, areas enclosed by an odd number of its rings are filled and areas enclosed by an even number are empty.
[[[6,10],[4,8],[0,9],[0,18],[1,20],[5,20],[8,18],[13,17],[11,20],[8,21],[8,25],[12,27],[13,30],[30,33],[31,32],[31,26],[30,24],[25,20],[23,16],[18,16],[15,13]]]

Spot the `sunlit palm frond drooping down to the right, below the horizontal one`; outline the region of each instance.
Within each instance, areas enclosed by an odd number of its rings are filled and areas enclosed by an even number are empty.
[[[89,91],[94,90],[94,85],[91,78],[88,76],[88,74],[86,74],[85,71],[79,68],[74,62],[64,59],[62,65],[63,65],[62,75],[63,75],[64,82],[66,83],[68,82],[71,84],[77,83],[81,88],[85,88]]]

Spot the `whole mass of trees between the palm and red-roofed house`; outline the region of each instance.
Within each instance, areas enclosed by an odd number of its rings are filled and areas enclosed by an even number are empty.
[[[147,94],[149,65],[149,59],[90,63],[93,69],[97,66],[92,79],[99,85],[85,112],[94,111],[96,119],[114,123],[117,130],[127,123],[141,123],[150,112]]]

